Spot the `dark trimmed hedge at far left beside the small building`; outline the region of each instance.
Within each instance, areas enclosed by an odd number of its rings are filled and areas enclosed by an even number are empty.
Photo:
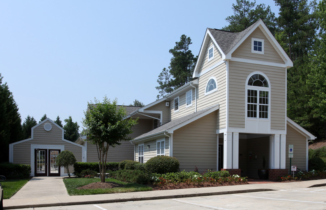
[[[25,179],[31,175],[31,165],[2,163],[0,172],[7,179]]]

